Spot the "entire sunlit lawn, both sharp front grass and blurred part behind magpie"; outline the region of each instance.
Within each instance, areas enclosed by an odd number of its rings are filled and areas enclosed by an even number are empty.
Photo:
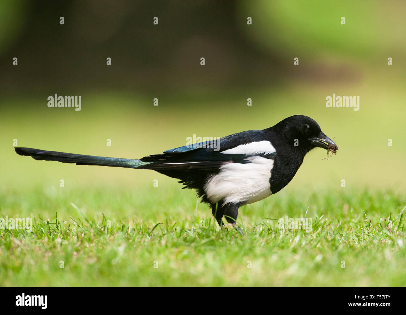
[[[89,94],[80,112],[49,111],[41,98],[3,101],[0,218],[30,217],[33,228],[0,229],[0,286],[405,286],[404,90],[390,87],[397,97],[382,112],[388,89],[360,89],[368,107],[359,112],[326,108],[328,87],[257,91],[251,107],[246,93],[172,95],[158,108],[152,96]],[[207,104],[209,121],[200,114]],[[341,150],[328,160],[325,150],[311,151],[287,187],[242,207],[244,237],[220,230],[208,206],[172,178],[13,150],[136,159],[193,135],[267,128],[294,114],[314,118]],[[281,230],[286,216],[312,219],[311,230]]]

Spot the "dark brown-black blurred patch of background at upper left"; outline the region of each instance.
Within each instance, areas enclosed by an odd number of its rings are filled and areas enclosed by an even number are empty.
[[[19,93],[22,85],[47,94],[84,83],[86,89],[143,93],[194,87],[233,91],[266,86],[290,68],[278,53],[264,53],[252,44],[249,33],[255,30],[242,29],[248,25],[246,17],[239,17],[238,2],[44,1],[9,6],[8,22],[18,24],[5,34],[8,45],[3,46],[1,84],[9,93]],[[59,25],[59,16],[65,17],[65,25]],[[153,25],[155,16],[158,25]],[[257,29],[255,24],[249,27]],[[18,72],[9,62],[16,53]],[[112,67],[101,67],[106,56]],[[201,56],[205,67],[197,62]]]

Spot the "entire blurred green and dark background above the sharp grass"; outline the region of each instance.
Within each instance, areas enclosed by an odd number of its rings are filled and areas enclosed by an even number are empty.
[[[136,193],[158,179],[156,200],[160,187],[181,186],[153,171],[17,156],[13,139],[22,147],[140,158],[184,146],[194,134],[222,137],[302,114],[341,150],[328,160],[324,150],[309,153],[287,193],[404,192],[405,9],[404,1],[2,1],[0,189],[122,186]],[[54,93],[82,96],[82,110],[48,108]],[[326,108],[333,93],[360,96],[360,110]]]

